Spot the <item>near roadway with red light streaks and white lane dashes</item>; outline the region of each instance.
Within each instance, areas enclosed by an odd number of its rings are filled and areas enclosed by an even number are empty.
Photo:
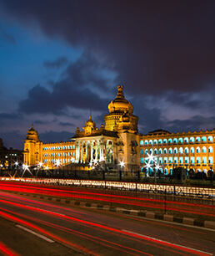
[[[213,255],[215,231],[0,192],[6,255]],[[3,254],[3,253],[2,253]],[[4,254],[3,254],[4,255]]]

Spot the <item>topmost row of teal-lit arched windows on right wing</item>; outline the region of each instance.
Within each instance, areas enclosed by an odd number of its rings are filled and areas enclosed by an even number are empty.
[[[214,137],[215,138],[215,137]],[[155,140],[145,140],[145,141],[140,141],[140,145],[163,145],[163,144],[173,144],[173,143],[175,143],[175,144],[178,144],[178,143],[180,143],[180,144],[183,144],[183,143],[189,143],[189,142],[191,142],[191,143],[194,143],[194,142],[198,142],[198,143],[200,143],[201,141],[202,142],[213,142],[214,141],[214,138],[213,138],[213,136],[203,136],[203,137],[190,137],[190,138],[188,138],[188,137],[185,137],[185,138],[174,138],[174,139],[159,139],[159,140],[157,140],[157,139],[155,139]]]

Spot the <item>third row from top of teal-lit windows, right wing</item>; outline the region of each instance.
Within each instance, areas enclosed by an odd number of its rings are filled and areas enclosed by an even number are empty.
[[[141,157],[140,162],[142,164],[147,164],[148,163],[148,158],[143,158]],[[188,156],[180,156],[180,157],[154,157],[155,163],[158,163],[159,165],[163,164],[213,164],[213,156],[203,156],[202,158],[200,156],[194,157],[188,157]],[[150,162],[150,164],[153,164],[153,162]]]

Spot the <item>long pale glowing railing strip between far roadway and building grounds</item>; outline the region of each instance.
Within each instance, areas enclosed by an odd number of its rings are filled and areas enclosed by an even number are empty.
[[[117,189],[149,193],[151,192],[182,197],[203,197],[212,199],[215,197],[215,188],[213,187],[194,187],[168,184],[161,185],[143,182],[117,182],[48,177],[1,177],[0,180],[7,182],[35,182],[62,186],[99,187],[103,189]]]

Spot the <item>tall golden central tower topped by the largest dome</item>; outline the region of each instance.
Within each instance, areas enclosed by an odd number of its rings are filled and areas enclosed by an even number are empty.
[[[127,170],[139,165],[138,116],[133,115],[133,105],[123,95],[123,85],[117,86],[117,97],[108,105],[109,114],[104,115],[105,130],[116,131],[117,160],[123,161]]]

